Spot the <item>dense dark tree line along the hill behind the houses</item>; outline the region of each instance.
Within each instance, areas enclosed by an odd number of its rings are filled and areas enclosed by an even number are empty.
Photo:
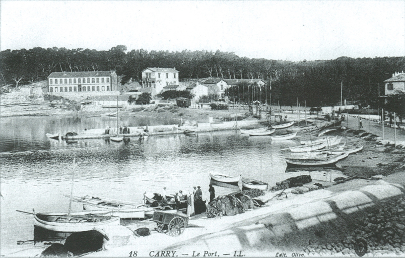
[[[241,100],[270,101],[283,105],[307,106],[336,104],[343,99],[376,105],[384,94],[383,81],[405,71],[405,57],[349,58],[315,61],[282,61],[239,57],[233,52],[213,51],[127,51],[123,45],[108,51],[90,49],[41,48],[5,50],[0,53],[0,85],[21,85],[45,80],[52,72],[114,70],[123,80],[141,79],[147,67],[170,67],[180,79],[217,77],[223,79],[262,79],[264,87],[245,85],[228,89],[227,94]],[[380,92],[378,92],[380,83]],[[238,91],[238,94],[236,94]]]

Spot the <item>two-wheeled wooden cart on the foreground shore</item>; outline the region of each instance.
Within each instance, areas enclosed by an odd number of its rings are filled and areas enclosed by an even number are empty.
[[[187,216],[164,211],[155,211],[152,221],[156,222],[158,232],[167,233],[171,236],[180,235],[188,225]]]

